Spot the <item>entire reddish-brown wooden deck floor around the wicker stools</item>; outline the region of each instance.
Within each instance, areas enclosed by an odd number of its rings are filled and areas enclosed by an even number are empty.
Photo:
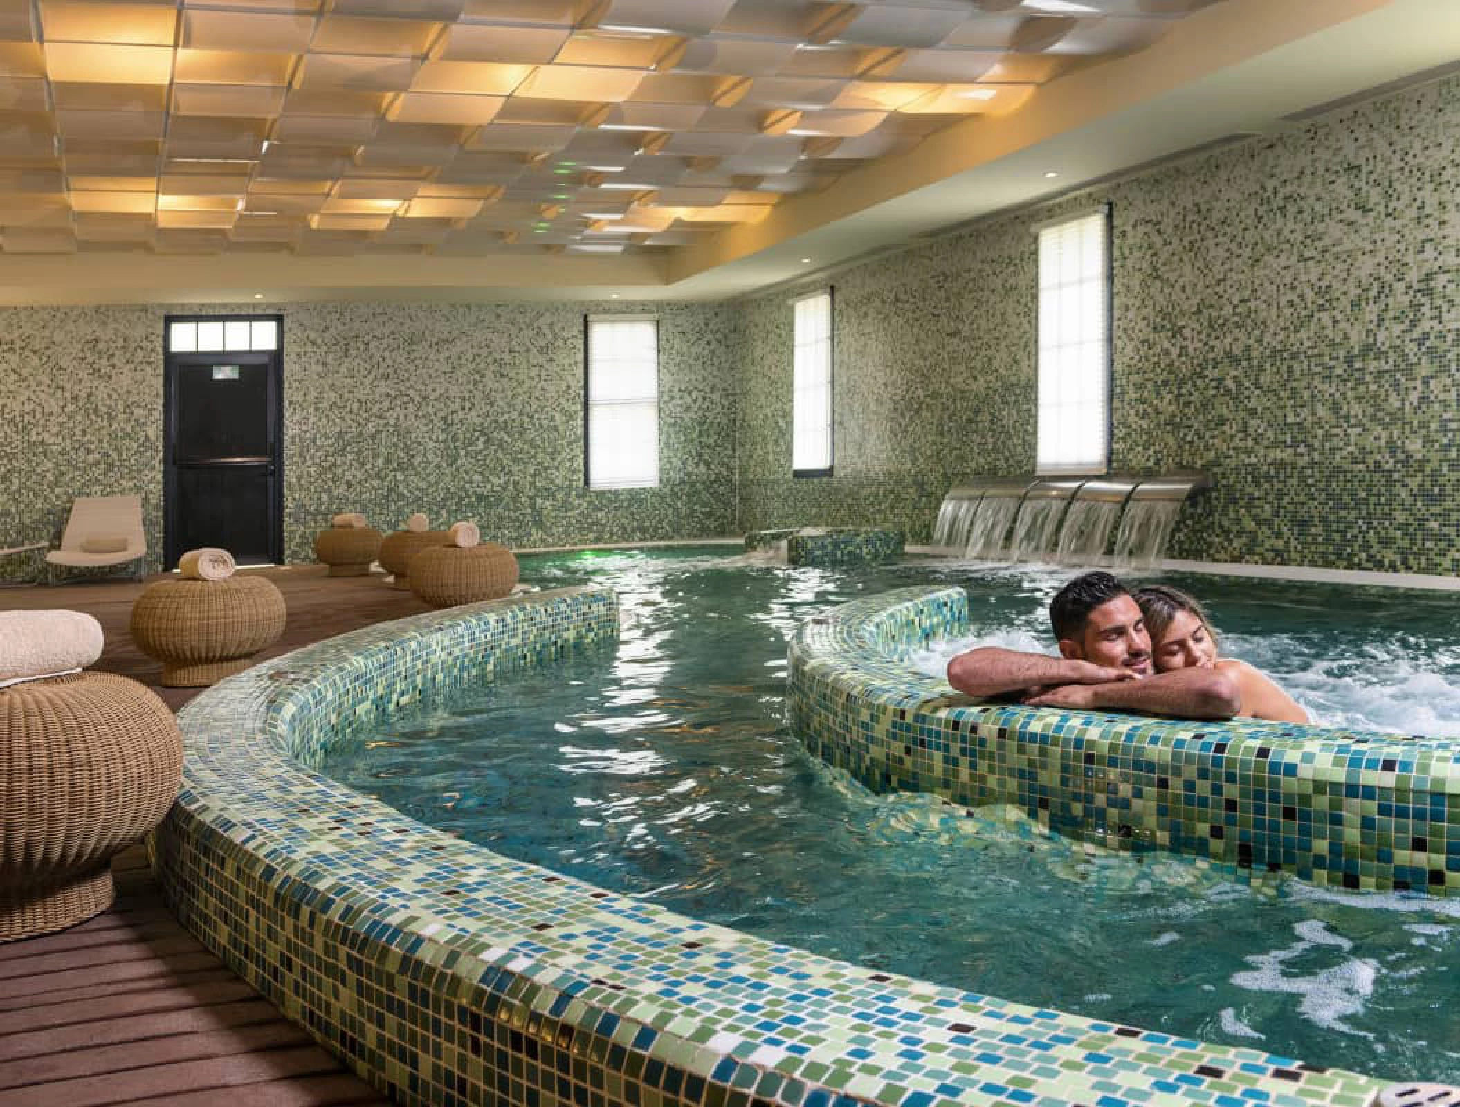
[[[266,570],[289,627],[263,656],[426,610],[381,577],[323,567]],[[156,686],[127,632],[140,584],[7,589],[0,610],[70,608],[101,619],[96,669],[120,672],[174,710],[200,689]],[[57,935],[0,943],[0,1107],[343,1107],[388,1100],[232,974],[162,904],[140,847],[118,854],[117,903]]]

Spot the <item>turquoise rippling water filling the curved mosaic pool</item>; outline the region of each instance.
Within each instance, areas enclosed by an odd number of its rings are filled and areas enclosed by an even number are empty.
[[[873,796],[784,727],[785,640],[917,583],[975,640],[1042,648],[1064,574],[787,570],[724,548],[523,558],[619,591],[616,648],[517,673],[326,770],[499,853],[829,957],[1396,1079],[1460,1079],[1460,905],[1240,884],[1094,853],[1013,812]],[[1460,599],[1200,578],[1223,648],[1320,719],[1460,733]],[[936,667],[937,651],[920,659]]]

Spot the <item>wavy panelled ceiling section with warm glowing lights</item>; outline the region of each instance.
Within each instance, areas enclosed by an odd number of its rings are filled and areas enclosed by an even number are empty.
[[[695,247],[1226,1],[0,0],[0,248]]]

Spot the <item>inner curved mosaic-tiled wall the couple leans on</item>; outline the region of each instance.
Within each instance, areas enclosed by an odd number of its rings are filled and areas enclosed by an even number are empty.
[[[1234,875],[1460,894],[1453,740],[986,705],[905,660],[967,629],[962,589],[927,587],[804,625],[790,650],[793,726],[877,792],[1013,803],[1063,834]]]

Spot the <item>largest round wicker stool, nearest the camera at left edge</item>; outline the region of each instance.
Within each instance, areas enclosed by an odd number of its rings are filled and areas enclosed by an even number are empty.
[[[162,821],[181,774],[172,711],[136,681],[0,689],[0,942],[105,911],[111,856]]]

